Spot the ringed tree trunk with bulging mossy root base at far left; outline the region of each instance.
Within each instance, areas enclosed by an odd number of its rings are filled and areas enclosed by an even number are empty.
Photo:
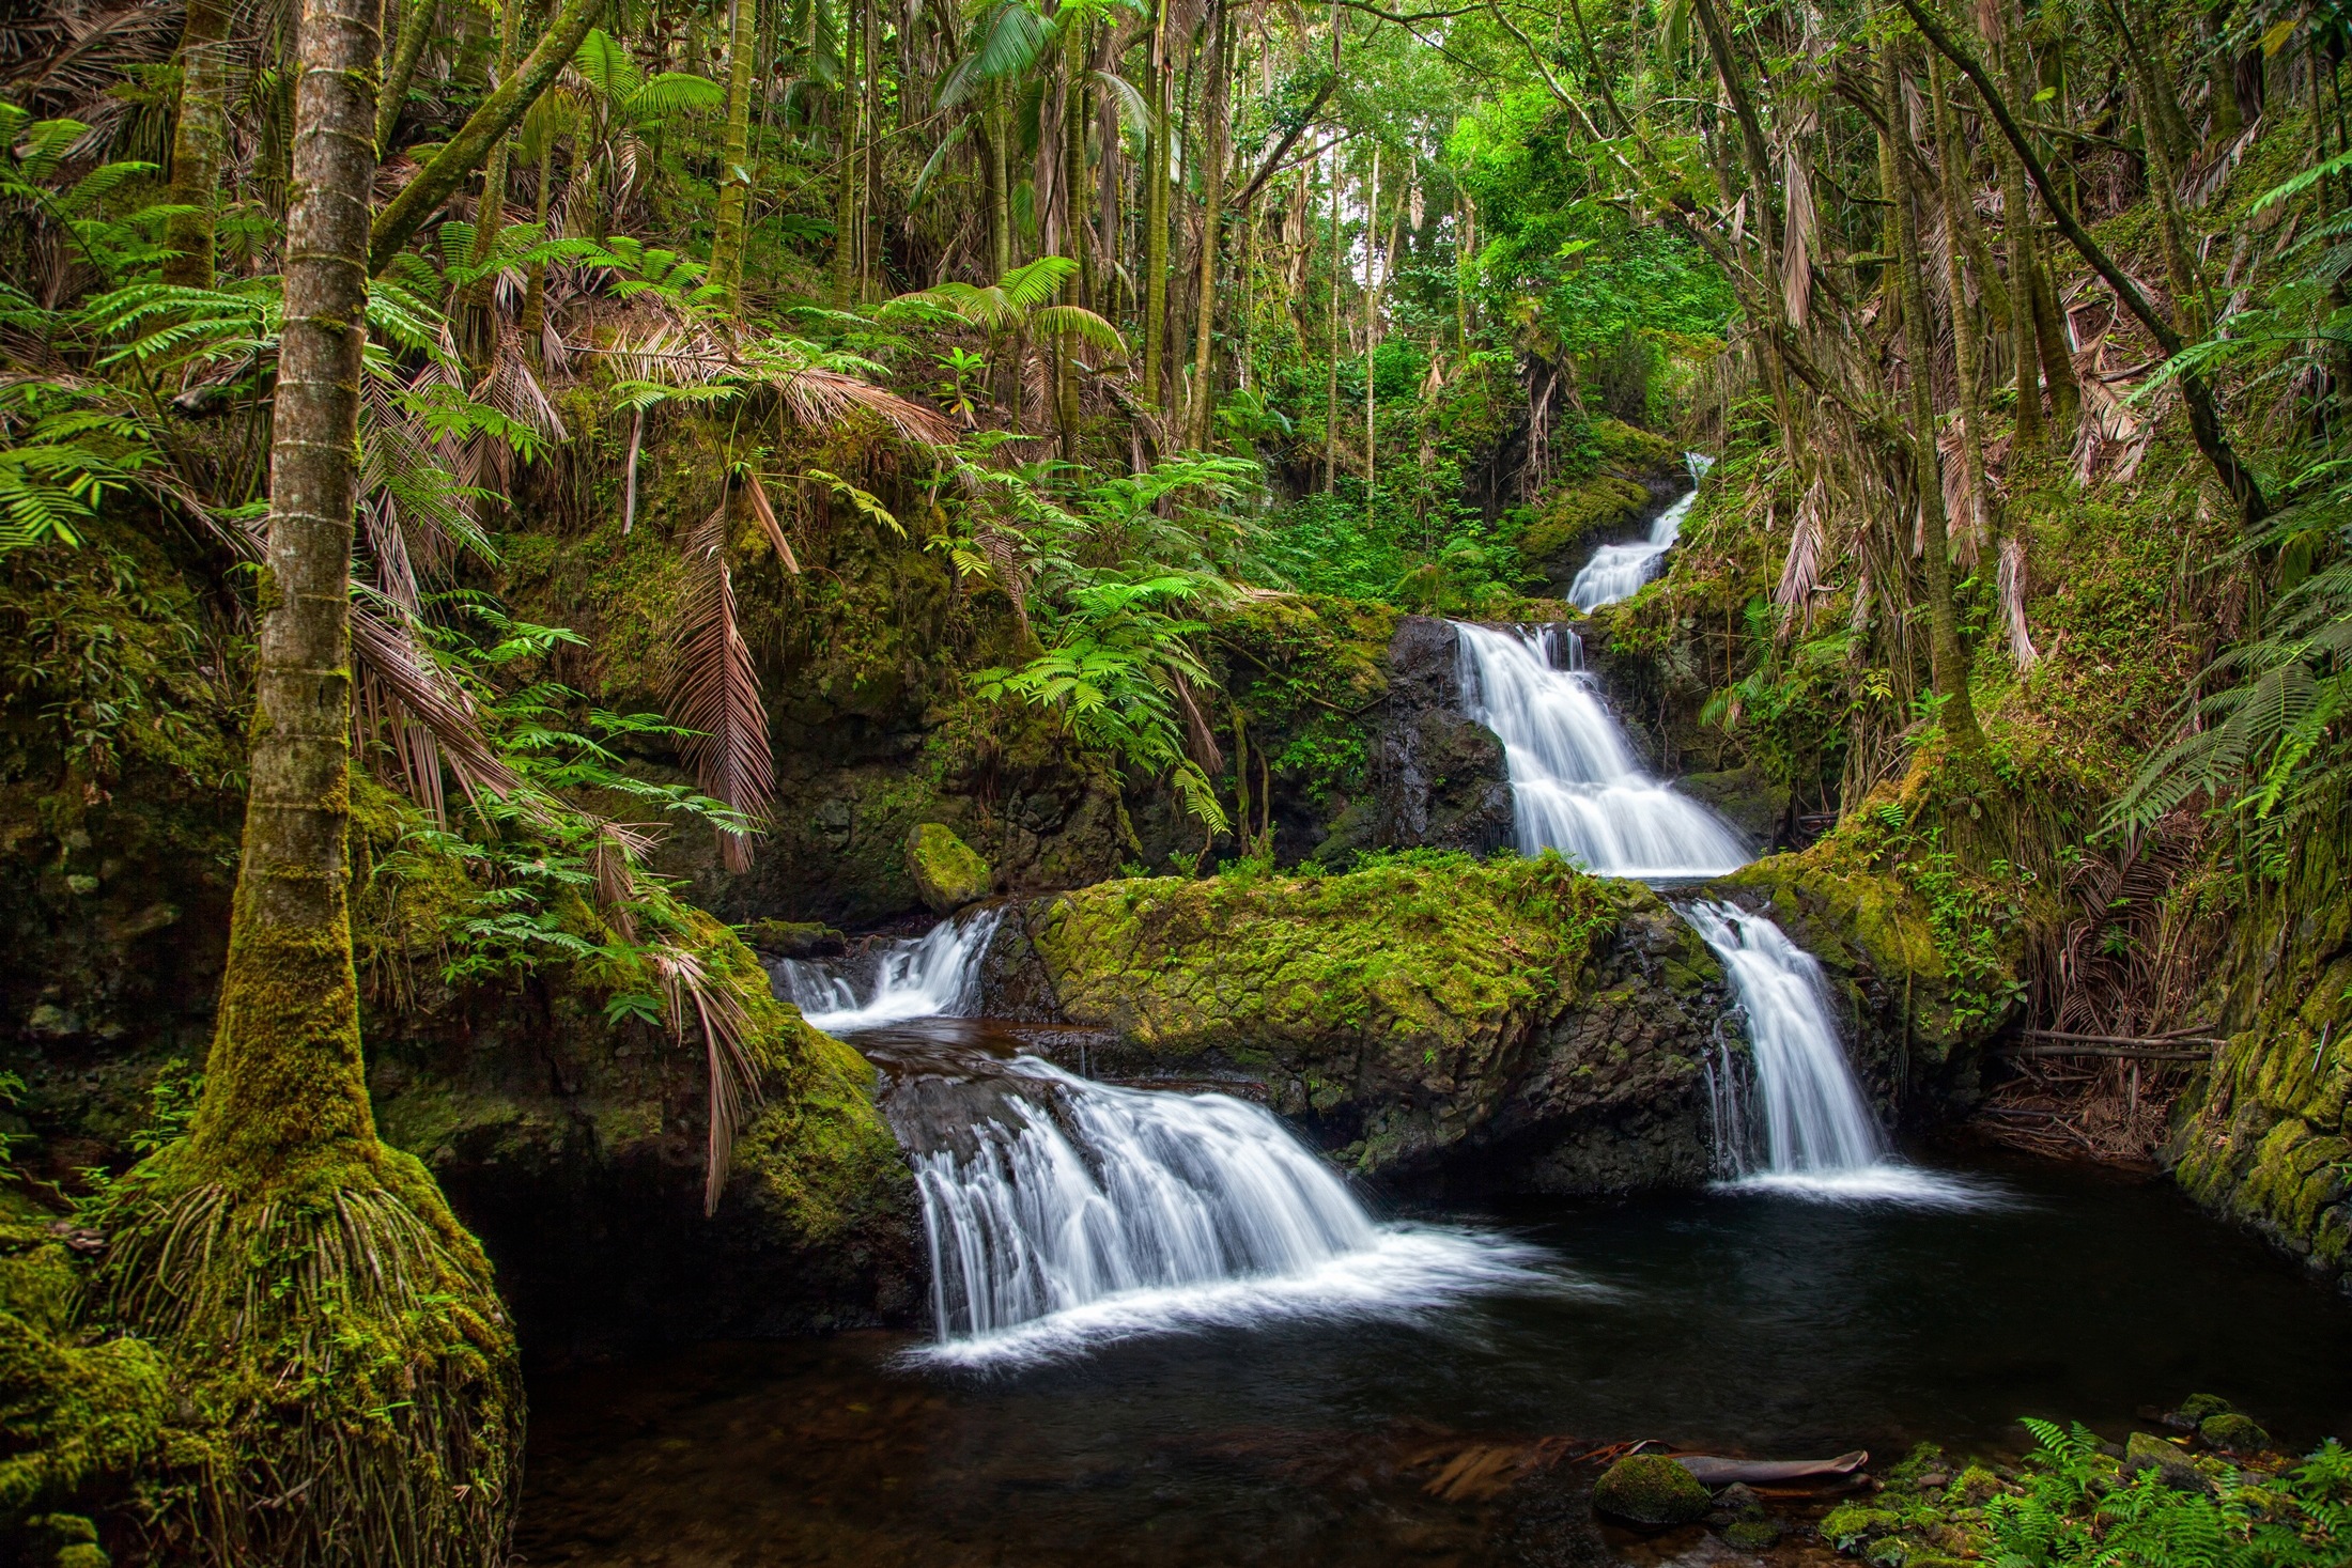
[[[205,1434],[174,1561],[503,1563],[522,1434],[480,1246],[360,1060],[350,541],[381,0],[303,0],[249,795],[188,1138],[120,1199],[122,1319]]]

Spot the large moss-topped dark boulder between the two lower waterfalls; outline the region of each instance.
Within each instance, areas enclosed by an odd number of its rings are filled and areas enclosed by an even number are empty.
[[[1362,1173],[1529,1192],[1710,1173],[1722,971],[1649,889],[1557,856],[1105,882],[1021,905],[1000,943],[995,994],[1108,1034],[1096,1063],[1256,1079]]]

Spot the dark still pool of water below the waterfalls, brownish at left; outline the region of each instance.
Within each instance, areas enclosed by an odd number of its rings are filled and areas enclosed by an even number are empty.
[[[2190,1392],[2288,1443],[2352,1439],[2347,1302],[2161,1182],[1973,1175],[2006,1204],[1446,1215],[1550,1248],[1576,1288],[1423,1324],[1216,1328],[995,1375],[913,1368],[917,1340],[863,1333],[546,1378],[517,1549],[541,1568],[1597,1563],[1632,1547],[1562,1502],[1583,1481],[1489,1495],[1449,1467],[1548,1476],[1543,1439],[1566,1436],[1999,1450],[2018,1415],[2119,1434]]]

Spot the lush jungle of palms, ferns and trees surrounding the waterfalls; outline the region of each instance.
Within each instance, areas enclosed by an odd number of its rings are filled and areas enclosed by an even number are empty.
[[[200,1100],[7,1319],[7,1425],[89,1441],[0,1443],[0,1521],[136,1474],[191,1559],[501,1561],[513,1335],[372,1124],[353,802],[496,896],[454,969],[593,961],[701,1041],[715,1204],[743,1006],[637,816],[753,863],[793,693],[739,588],[795,604],[811,527],[950,559],[1014,623],[981,701],[1247,849],[1221,614],[1515,618],[1625,428],[1717,451],[1609,646],[1957,947],[2037,945],[2044,1023],[2187,1023],[2199,900],[2343,835],[2347,45],[2288,0],[16,7],[0,564],[228,632],[172,686],[26,590],[5,701],[92,802],[226,715],[247,827]],[[626,536],[689,433],[677,675],[607,712],[501,562]]]

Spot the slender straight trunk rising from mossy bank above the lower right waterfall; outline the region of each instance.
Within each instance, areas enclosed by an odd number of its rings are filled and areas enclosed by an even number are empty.
[[[1962,750],[1983,745],[1976,708],[1969,701],[1969,654],[1959,642],[1959,609],[1952,602],[1952,548],[1943,515],[1943,480],[1938,477],[1933,339],[1926,315],[1926,273],[1919,263],[1917,181],[1910,158],[1896,141],[1903,134],[1903,68],[1896,45],[1879,42],[1879,110],[1886,129],[1879,134],[1879,186],[1896,214],[1896,273],[1903,289],[1903,343],[1910,374],[1910,447],[1912,489],[1919,501],[1922,576],[1926,576],[1929,663],[1936,696],[1943,705],[1945,733]]]

